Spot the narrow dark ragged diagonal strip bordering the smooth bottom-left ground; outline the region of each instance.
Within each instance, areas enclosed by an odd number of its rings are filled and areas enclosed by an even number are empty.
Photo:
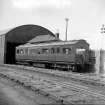
[[[74,105],[73,103],[70,103],[70,102],[68,103],[66,101],[65,101],[65,103],[66,103],[65,104],[64,101],[62,99],[58,98],[58,97],[55,97],[55,96],[53,96],[53,95],[51,95],[51,94],[49,94],[45,91],[42,91],[38,88],[32,87],[29,84],[26,84],[26,83],[24,83],[20,80],[8,77],[7,75],[4,75],[2,73],[0,73],[0,79],[7,79],[9,81],[15,82],[16,84],[18,84],[18,85],[20,85],[20,86],[22,86],[22,87],[24,87],[28,90],[31,90],[31,91],[35,92],[36,94],[40,94],[40,95],[43,95],[44,97],[48,97],[48,99],[54,100],[55,103],[52,103],[51,105]],[[38,104],[38,105],[47,105],[47,104]],[[50,104],[48,104],[48,105],[50,105]]]

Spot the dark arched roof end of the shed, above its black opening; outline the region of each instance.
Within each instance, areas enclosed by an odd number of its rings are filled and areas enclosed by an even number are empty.
[[[48,29],[39,25],[22,25],[14,29],[9,29],[0,33],[5,34],[6,42],[12,43],[26,43],[38,35],[55,35]]]

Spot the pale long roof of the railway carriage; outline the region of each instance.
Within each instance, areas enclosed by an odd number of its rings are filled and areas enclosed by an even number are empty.
[[[20,45],[18,47],[42,47],[42,46],[54,46],[54,45],[65,45],[65,44],[77,44],[78,42],[85,42],[86,44],[88,44],[85,40],[71,40],[71,41],[58,41],[58,42],[51,42],[51,43],[41,43],[41,44],[24,44],[24,45]]]

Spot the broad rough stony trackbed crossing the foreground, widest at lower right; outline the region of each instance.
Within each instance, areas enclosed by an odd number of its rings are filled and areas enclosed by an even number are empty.
[[[105,94],[102,94],[102,91],[97,92],[97,89],[76,84],[59,75],[51,76],[48,75],[49,73],[33,72],[33,70],[26,72],[25,69],[22,72],[15,68],[8,68],[8,71],[4,69],[0,70],[1,76],[18,81],[33,90],[40,90],[42,93],[46,93],[46,96],[55,97],[63,104],[105,104]]]

